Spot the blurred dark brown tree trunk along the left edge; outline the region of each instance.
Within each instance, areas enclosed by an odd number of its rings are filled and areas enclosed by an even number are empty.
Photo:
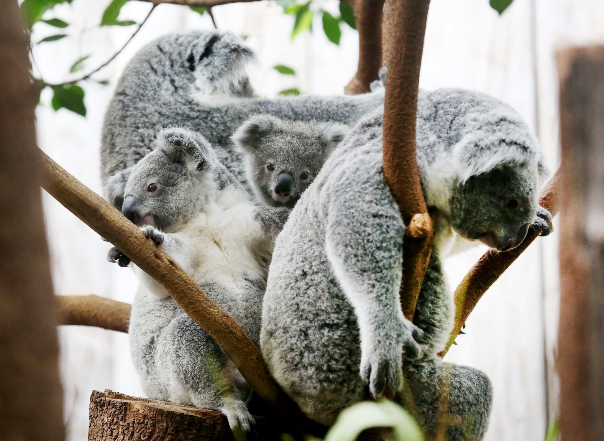
[[[18,4],[2,1],[0,10],[0,440],[59,441],[63,394],[40,199],[37,93]]]

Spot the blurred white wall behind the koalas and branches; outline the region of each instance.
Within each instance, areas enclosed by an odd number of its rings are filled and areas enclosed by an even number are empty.
[[[336,0],[316,4],[336,13]],[[84,72],[103,63],[129,38],[135,27],[98,28],[109,0],[76,0],[54,8],[69,22],[70,38],[34,47],[36,70],[46,82],[70,79],[69,67],[82,56]],[[526,118],[541,141],[547,162],[558,165],[557,74],[555,50],[571,44],[604,42],[601,0],[515,0],[503,16],[488,0],[432,0],[420,86],[471,88],[509,102]],[[141,21],[146,2],[128,2],[120,19]],[[261,96],[297,87],[303,93],[341,94],[356,70],[358,37],[342,25],[339,46],[330,42],[315,16],[312,33],[294,40],[293,16],[271,1],[214,8],[220,30],[246,36],[258,54],[252,84]],[[40,147],[93,190],[100,192],[99,147],[103,114],[126,63],[149,40],[171,32],[211,29],[207,14],[186,7],[159,5],[140,33],[95,78],[109,86],[84,85],[88,115],[83,118],[50,106],[44,91],[37,109]],[[61,30],[63,31],[63,30]],[[37,24],[32,40],[56,34]],[[63,33],[63,32],[61,32]],[[286,65],[295,76],[272,66]],[[77,77],[79,74],[72,74]],[[97,294],[131,302],[136,288],[131,270],[105,260],[109,244],[48,195],[44,195],[54,289],[59,295]],[[446,263],[454,288],[484,249]],[[472,365],[492,379],[495,399],[489,441],[542,440],[557,414],[556,359],[559,307],[557,234],[539,239],[495,283],[467,321],[466,333],[446,356]],[[59,329],[65,419],[68,438],[86,439],[88,399],[92,389],[110,388],[143,395],[130,362],[126,334],[88,327]]]

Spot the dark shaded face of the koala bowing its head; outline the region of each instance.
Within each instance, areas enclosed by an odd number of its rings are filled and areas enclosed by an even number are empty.
[[[538,208],[537,179],[527,170],[504,166],[471,176],[451,194],[452,226],[466,239],[499,251],[518,246]]]

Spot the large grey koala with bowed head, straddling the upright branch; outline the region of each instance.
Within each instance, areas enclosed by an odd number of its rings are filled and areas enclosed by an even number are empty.
[[[278,236],[262,353],[316,422],[332,424],[367,385],[376,398],[388,387],[428,439],[482,439],[489,378],[437,356],[455,315],[440,259],[477,243],[506,251],[528,228],[548,234],[551,215],[538,205],[547,167],[505,103],[458,89],[420,91],[417,163],[436,243],[410,323],[399,298],[405,223],[384,180],[382,120],[376,109],[344,138]]]

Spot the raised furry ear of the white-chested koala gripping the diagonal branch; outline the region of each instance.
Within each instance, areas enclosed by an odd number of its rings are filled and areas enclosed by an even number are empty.
[[[207,153],[211,146],[198,132],[179,127],[159,130],[156,147],[177,163],[194,166],[198,171],[210,169]]]

